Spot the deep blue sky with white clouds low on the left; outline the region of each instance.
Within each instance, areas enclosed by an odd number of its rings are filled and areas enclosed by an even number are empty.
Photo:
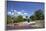
[[[44,10],[44,3],[16,1],[7,2],[8,15],[11,15],[11,13],[12,15],[17,13],[18,15],[31,16],[39,9]]]

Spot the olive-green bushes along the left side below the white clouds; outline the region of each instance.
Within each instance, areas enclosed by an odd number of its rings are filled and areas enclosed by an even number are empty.
[[[16,18],[11,17],[11,16],[7,16],[7,24],[12,23],[12,22],[13,23],[18,23],[18,22],[23,22],[23,21],[24,21],[24,19],[21,15],[17,16]]]

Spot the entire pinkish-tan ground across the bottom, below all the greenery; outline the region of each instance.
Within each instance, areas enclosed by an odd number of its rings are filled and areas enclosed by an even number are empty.
[[[36,22],[36,23],[35,23]],[[18,24],[12,24],[11,26],[6,25],[6,30],[15,30],[15,29],[34,29],[34,28],[43,28],[44,27],[44,23],[43,21],[33,21],[33,22],[21,22]]]

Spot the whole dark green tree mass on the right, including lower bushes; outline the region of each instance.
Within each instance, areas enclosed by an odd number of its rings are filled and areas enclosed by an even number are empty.
[[[43,20],[44,19],[44,13],[42,10],[38,10],[34,13],[33,16],[30,16],[31,20]]]

